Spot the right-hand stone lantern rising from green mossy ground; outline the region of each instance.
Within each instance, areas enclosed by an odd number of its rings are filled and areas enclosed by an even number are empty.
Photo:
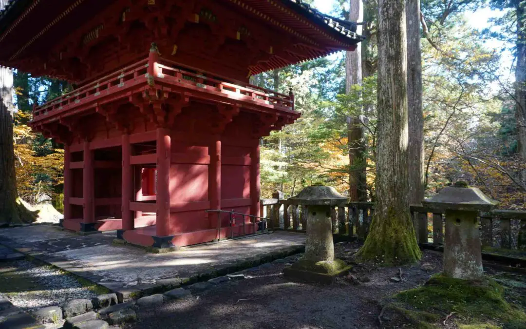
[[[422,202],[424,207],[446,211],[444,275],[464,280],[483,276],[477,215],[492,210],[497,203],[464,182],[445,187]]]

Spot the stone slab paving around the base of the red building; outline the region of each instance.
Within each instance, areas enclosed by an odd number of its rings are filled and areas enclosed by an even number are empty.
[[[0,244],[119,291],[165,291],[301,252],[305,234],[274,232],[152,254],[112,244],[115,232],[80,236],[53,225],[0,229]]]

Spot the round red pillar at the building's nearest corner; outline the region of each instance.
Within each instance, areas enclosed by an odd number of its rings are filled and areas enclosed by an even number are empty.
[[[157,128],[157,236],[170,235],[170,129]]]

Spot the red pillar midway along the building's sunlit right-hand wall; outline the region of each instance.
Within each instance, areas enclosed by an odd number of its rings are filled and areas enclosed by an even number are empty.
[[[209,196],[210,209],[221,209],[221,137],[214,135],[210,144],[210,168],[209,168]],[[210,213],[210,220],[214,226],[217,226],[217,213]]]

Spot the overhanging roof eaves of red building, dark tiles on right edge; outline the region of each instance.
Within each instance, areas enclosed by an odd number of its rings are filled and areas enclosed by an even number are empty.
[[[9,1],[0,11],[0,65],[18,67],[28,72],[35,70],[29,69],[27,65],[39,65],[36,72],[32,73],[53,75],[49,73],[49,65],[46,68],[45,62],[55,44],[119,1],[54,0],[52,6],[44,0]],[[146,3],[146,0],[144,1]],[[178,3],[175,0],[166,1]],[[364,39],[356,34],[355,22],[322,14],[302,0],[215,1],[217,4],[234,8],[242,15],[251,17],[250,19],[262,19],[261,22],[266,22],[265,24],[271,23],[270,26],[274,25],[304,40],[310,40],[310,46],[305,48],[307,50],[302,59],[290,59],[285,56],[284,61],[284,57],[277,54],[277,57],[269,59],[267,65],[250,65],[252,73],[268,71],[336,51],[352,51],[356,44]],[[155,3],[155,0],[153,2]],[[309,44],[309,41],[306,43]],[[21,64],[21,61],[24,64]]]

